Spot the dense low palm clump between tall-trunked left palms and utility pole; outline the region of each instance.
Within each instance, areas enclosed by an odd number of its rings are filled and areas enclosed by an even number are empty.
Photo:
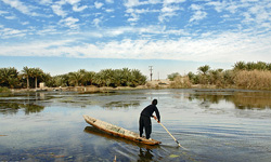
[[[55,76],[53,86],[138,86],[145,84],[146,77],[137,69],[103,69],[100,72],[80,69],[76,72]]]

